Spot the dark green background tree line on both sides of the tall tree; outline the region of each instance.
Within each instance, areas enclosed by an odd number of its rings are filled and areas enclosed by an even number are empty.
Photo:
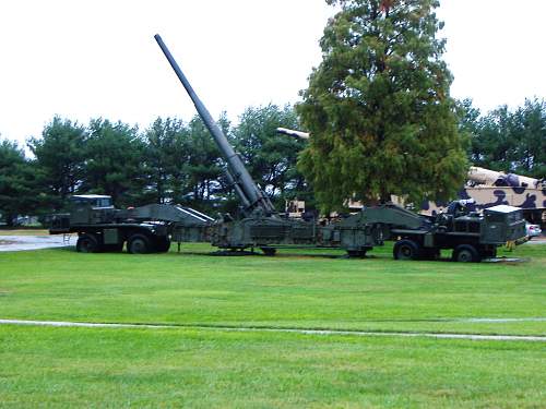
[[[464,100],[459,115],[459,128],[468,135],[470,163],[546,178],[544,100],[529,99],[513,110],[501,106],[485,115]],[[294,107],[250,107],[238,124],[225,115],[217,123],[277,208],[294,197],[306,200],[308,207],[314,204],[297,167],[306,142],[275,131],[299,129]],[[221,153],[199,117],[157,118],[143,130],[102,118],[83,125],[56,117],[26,146],[32,155],[15,142],[0,140],[0,213],[9,225],[17,215],[62,210],[67,197],[79,193],[109,194],[120,207],[173,203],[235,213],[238,206],[223,175]]]

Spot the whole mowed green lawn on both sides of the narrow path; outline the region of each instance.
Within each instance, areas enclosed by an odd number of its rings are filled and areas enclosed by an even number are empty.
[[[502,264],[174,248],[0,254],[0,318],[176,326],[0,325],[0,406],[545,407],[546,342],[274,330],[546,336],[544,244]]]

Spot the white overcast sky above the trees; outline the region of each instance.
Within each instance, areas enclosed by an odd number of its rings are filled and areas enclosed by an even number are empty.
[[[198,95],[233,121],[298,100],[333,10],[322,0],[5,0],[0,2],[0,133],[23,142],[55,115],[145,128],[195,112],[159,33]],[[546,1],[442,0],[452,95],[482,110],[545,97]]]

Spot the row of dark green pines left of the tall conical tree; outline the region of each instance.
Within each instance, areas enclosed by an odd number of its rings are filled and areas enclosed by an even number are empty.
[[[292,106],[250,107],[237,125],[225,115],[217,123],[278,205],[309,192],[296,167],[305,142],[276,133],[277,127],[299,127]],[[32,155],[0,141],[0,213],[9,225],[16,215],[62,210],[68,196],[83,193],[111,195],[119,207],[171,203],[207,213],[238,207],[222,155],[199,117],[157,118],[143,130],[103,118],[83,125],[55,117],[26,146]]]

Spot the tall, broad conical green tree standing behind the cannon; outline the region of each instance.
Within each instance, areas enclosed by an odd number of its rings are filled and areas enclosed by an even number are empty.
[[[454,196],[467,171],[436,0],[327,0],[341,11],[297,106],[299,166],[323,207]]]

